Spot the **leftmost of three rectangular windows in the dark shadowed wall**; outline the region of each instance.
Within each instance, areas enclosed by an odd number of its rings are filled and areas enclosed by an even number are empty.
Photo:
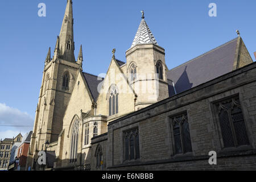
[[[123,137],[125,160],[139,159],[139,129],[125,131]]]

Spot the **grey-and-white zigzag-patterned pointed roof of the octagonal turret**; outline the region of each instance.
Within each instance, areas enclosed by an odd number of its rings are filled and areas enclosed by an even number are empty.
[[[147,26],[147,23],[144,20],[145,18],[144,11],[141,11],[141,13],[142,13],[141,24],[139,24],[137,34],[135,35],[135,38],[133,40],[133,44],[131,44],[131,47],[136,46],[137,44],[148,44],[148,43],[158,45],[158,43],[154,38],[154,35],[152,34],[150,28]]]

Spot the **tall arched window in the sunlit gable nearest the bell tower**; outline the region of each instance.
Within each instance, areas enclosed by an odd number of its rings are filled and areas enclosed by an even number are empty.
[[[77,143],[79,139],[79,120],[73,124],[70,147],[70,163],[77,162]]]

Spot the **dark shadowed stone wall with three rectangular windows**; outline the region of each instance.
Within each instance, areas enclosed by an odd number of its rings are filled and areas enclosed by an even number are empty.
[[[107,168],[147,169],[256,169],[256,64],[167,98],[116,119],[108,125]],[[224,148],[215,103],[238,96],[249,145]],[[175,154],[171,117],[186,112],[192,152]],[[140,158],[124,160],[123,131],[138,127]],[[217,165],[209,165],[209,151]]]

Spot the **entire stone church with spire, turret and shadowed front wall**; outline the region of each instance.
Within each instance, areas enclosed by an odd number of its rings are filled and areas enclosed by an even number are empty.
[[[256,169],[256,64],[239,32],[168,69],[142,11],[126,61],[113,49],[105,78],[84,72],[82,46],[77,59],[74,49],[68,0],[45,60],[27,168]]]

